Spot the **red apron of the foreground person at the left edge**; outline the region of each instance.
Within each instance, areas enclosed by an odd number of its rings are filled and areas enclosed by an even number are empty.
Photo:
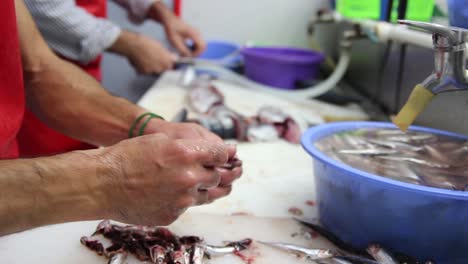
[[[0,1],[0,159],[18,157],[16,135],[24,113],[23,70],[13,0]]]

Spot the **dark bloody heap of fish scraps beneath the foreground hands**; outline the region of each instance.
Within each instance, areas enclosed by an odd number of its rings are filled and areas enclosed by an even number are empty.
[[[104,246],[103,237],[110,240],[110,246]],[[90,237],[82,237],[80,242],[108,258],[109,264],[125,263],[128,254],[150,263],[202,264],[205,258],[237,254],[252,244],[252,240],[244,239],[224,246],[211,246],[200,237],[178,237],[163,227],[119,226],[109,220],[99,223],[96,231]]]

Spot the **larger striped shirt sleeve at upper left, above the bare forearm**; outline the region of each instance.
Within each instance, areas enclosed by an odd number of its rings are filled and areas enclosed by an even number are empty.
[[[121,32],[117,25],[89,14],[74,0],[25,3],[49,46],[65,58],[83,64],[112,46]]]

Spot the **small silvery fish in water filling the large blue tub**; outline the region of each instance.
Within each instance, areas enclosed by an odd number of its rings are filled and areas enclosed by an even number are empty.
[[[326,137],[316,147],[337,161],[379,176],[449,190],[468,190],[468,140],[366,128]]]

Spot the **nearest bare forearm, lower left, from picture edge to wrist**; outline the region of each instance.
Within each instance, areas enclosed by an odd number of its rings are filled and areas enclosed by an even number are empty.
[[[0,236],[48,224],[109,217],[110,169],[92,150],[0,161]]]

